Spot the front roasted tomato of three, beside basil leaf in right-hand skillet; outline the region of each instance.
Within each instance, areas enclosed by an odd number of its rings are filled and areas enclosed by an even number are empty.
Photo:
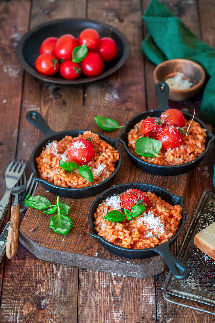
[[[162,150],[167,151],[169,148],[177,148],[183,142],[182,133],[175,126],[166,126],[159,130],[156,138],[162,142]]]

